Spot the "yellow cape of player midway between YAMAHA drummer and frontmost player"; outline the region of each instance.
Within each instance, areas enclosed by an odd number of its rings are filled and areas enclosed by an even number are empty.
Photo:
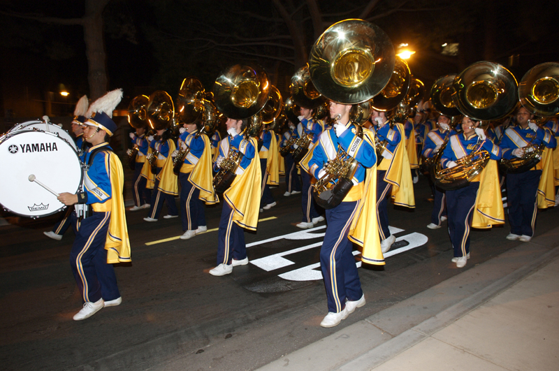
[[[234,210],[233,221],[242,228],[251,231],[258,226],[260,211],[260,193],[262,185],[262,173],[260,170],[260,157],[258,155],[258,143],[256,138],[249,138],[254,145],[254,159],[242,175],[237,175],[233,184],[224,192],[225,201]]]

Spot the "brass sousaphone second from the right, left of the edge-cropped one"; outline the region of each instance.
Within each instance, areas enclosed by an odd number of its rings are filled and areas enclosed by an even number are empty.
[[[516,106],[518,85],[514,75],[500,64],[481,61],[467,67],[453,81],[452,99],[458,110],[474,120],[492,120],[504,117]],[[440,150],[442,152],[442,149]],[[442,168],[435,163],[432,177],[435,185],[453,190],[466,187],[481,173],[490,154],[481,145],[453,168]]]

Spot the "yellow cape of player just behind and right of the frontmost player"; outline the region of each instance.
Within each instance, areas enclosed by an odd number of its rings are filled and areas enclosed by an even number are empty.
[[[405,140],[404,125],[394,124],[394,129],[400,132],[400,138]],[[390,167],[386,170],[384,181],[392,184],[391,196],[395,205],[415,208],[414,182],[412,170],[409,168],[406,146],[398,143]]]

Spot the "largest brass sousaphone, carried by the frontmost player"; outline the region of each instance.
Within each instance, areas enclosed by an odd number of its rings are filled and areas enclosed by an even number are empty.
[[[394,48],[375,24],[344,20],[329,27],[314,43],[309,59],[310,77],[317,90],[342,104],[368,102],[386,87],[394,71]],[[356,108],[356,134],[363,138],[361,122],[370,116],[370,103]],[[335,117],[335,121],[340,117]],[[307,144],[308,146],[308,144]],[[313,197],[325,209],[335,208],[353,187],[359,166],[356,159],[337,147],[334,159],[324,164],[324,177],[314,184]]]

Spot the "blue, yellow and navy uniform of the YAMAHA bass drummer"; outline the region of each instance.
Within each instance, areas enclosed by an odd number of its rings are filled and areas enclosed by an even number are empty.
[[[78,203],[89,205],[92,212],[83,219],[73,214],[76,233],[71,268],[84,302],[115,300],[120,293],[112,263],[131,261],[122,199],[122,163],[108,143],[89,148],[84,163],[89,163],[89,168]]]

